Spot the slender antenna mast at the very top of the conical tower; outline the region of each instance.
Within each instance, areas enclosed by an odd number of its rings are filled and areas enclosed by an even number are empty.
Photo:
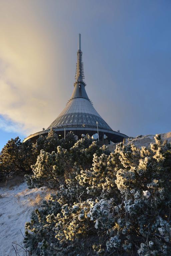
[[[81,34],[79,34],[75,80],[76,82],[83,82],[83,79],[84,79],[84,70],[83,70],[82,51],[81,51]]]

